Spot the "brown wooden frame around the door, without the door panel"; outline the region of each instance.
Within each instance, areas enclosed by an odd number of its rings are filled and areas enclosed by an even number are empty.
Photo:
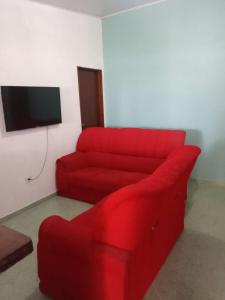
[[[104,101],[103,101],[103,83],[102,83],[102,70],[100,69],[93,69],[87,67],[77,66],[77,77],[78,77],[78,89],[79,89],[79,70],[86,70],[86,71],[94,71],[96,72],[97,76],[97,84],[98,84],[98,95],[97,95],[97,106],[98,106],[98,126],[104,127]],[[80,95],[79,95],[80,97]]]

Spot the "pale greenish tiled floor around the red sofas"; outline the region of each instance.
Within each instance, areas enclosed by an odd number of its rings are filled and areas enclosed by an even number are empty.
[[[31,236],[36,247],[38,227],[45,217],[59,214],[70,219],[89,207],[55,196],[5,225]],[[0,275],[0,299],[48,299],[38,290],[36,252]],[[144,300],[225,300],[224,187],[190,183],[185,231]]]

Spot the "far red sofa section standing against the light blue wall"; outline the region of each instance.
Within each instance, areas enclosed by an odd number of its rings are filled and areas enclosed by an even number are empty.
[[[57,161],[58,194],[96,203],[153,173],[184,139],[179,130],[86,129],[77,151]]]

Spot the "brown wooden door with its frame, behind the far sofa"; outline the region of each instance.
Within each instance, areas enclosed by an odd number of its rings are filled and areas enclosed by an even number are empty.
[[[102,71],[78,67],[82,130],[104,127]]]

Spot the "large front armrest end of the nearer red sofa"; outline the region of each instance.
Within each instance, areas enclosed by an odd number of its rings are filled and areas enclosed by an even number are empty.
[[[88,218],[81,224],[79,216],[71,222],[52,216],[41,224],[41,291],[51,299],[125,299],[129,253],[94,242],[93,227],[85,221]]]

